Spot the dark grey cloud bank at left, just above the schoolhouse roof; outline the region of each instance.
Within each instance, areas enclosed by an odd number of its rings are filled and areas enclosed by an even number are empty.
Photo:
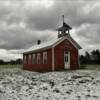
[[[0,31],[0,47],[4,49],[22,49],[36,44],[38,39],[44,40],[47,35],[43,37],[40,32],[26,30],[24,28],[16,28],[13,30]]]

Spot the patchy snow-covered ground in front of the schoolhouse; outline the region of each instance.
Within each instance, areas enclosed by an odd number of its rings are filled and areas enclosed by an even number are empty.
[[[0,100],[100,100],[100,71],[0,70]]]

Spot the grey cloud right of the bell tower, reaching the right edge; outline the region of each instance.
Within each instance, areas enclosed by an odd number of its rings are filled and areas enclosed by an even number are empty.
[[[98,24],[83,24],[77,29],[79,37],[84,37],[84,41],[89,45],[100,44],[100,25]]]

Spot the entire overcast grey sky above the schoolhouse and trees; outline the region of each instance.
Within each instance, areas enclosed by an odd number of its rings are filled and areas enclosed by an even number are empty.
[[[0,59],[22,57],[38,39],[56,38],[62,15],[80,53],[100,49],[99,0],[0,0]]]

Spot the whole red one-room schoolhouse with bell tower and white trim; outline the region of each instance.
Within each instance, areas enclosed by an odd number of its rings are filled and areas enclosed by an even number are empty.
[[[23,53],[23,69],[38,72],[78,69],[81,47],[70,36],[71,29],[63,20],[63,26],[57,29],[57,39],[47,43],[38,40]]]

